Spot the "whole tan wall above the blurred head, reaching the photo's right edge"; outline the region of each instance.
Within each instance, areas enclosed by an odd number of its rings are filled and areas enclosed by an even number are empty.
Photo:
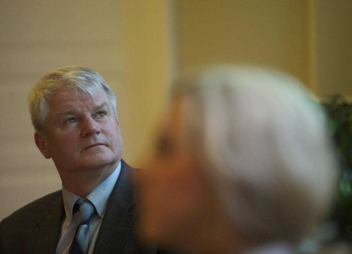
[[[352,98],[352,1],[179,0],[180,70],[249,63],[282,69],[316,95]]]

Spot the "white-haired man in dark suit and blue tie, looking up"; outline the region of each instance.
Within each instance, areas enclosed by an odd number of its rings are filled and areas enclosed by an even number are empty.
[[[54,161],[62,190],[1,222],[0,253],[160,253],[135,235],[136,170],[121,159],[116,97],[102,76],[56,69],[29,104],[34,141]]]

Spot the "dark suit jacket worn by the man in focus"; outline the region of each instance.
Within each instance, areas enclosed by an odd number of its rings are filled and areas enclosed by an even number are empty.
[[[143,247],[136,237],[137,196],[131,180],[135,171],[121,160],[121,172],[108,200],[94,254],[163,253]],[[55,253],[64,216],[61,190],[15,211],[0,223],[0,253]]]

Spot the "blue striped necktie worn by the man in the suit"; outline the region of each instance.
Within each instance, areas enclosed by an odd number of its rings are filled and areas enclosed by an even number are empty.
[[[87,254],[89,245],[89,222],[92,218],[95,208],[89,200],[79,198],[76,201],[74,210],[80,212],[80,225],[76,230],[75,237],[69,249],[69,254]]]

